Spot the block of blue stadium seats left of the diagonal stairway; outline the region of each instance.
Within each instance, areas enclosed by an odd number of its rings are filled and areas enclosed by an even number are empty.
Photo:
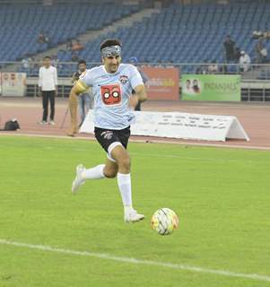
[[[112,4],[1,6],[0,61],[14,61],[46,51],[86,30],[100,30],[137,10],[137,5]],[[41,31],[48,34],[48,43],[38,43]],[[70,56],[63,59],[70,61]]]

